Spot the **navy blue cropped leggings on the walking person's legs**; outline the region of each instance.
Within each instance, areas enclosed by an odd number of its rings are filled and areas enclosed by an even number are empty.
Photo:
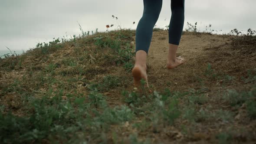
[[[153,28],[158,21],[163,0],[143,0],[144,11],[136,29],[136,52],[144,50],[148,54]],[[184,0],[171,0],[171,21],[169,43],[179,45],[184,26]]]

